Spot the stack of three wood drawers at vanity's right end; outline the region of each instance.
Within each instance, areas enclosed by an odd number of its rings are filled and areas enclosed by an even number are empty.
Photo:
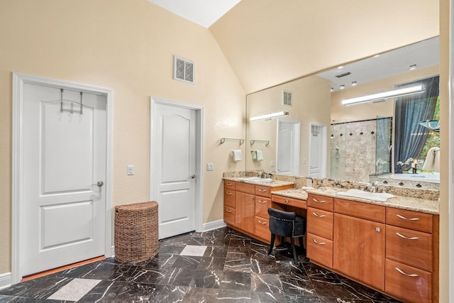
[[[438,216],[387,207],[386,223],[385,291],[408,302],[438,301]]]

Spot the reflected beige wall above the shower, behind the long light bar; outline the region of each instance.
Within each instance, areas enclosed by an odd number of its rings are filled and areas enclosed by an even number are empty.
[[[394,99],[387,99],[386,101],[377,103],[367,102],[350,106],[342,105],[342,100],[361,97],[367,94],[387,92],[395,89],[397,84],[412,82],[439,74],[439,65],[433,65],[419,70],[406,72],[402,75],[380,79],[375,82],[334,92],[331,94],[331,120],[341,122],[376,119],[377,116],[392,117],[394,116]]]

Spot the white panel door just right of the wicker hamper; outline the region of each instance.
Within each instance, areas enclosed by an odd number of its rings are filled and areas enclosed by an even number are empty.
[[[155,104],[155,199],[159,212],[159,238],[196,229],[196,111]]]

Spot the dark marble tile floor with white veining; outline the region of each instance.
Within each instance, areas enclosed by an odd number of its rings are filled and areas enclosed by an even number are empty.
[[[0,302],[398,302],[288,250],[220,228],[160,241],[138,264],[114,258],[0,290]]]

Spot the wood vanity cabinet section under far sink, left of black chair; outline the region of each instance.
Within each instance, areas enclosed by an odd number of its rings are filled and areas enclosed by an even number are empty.
[[[224,180],[224,221],[229,227],[270,243],[271,192],[293,185],[268,187]]]

